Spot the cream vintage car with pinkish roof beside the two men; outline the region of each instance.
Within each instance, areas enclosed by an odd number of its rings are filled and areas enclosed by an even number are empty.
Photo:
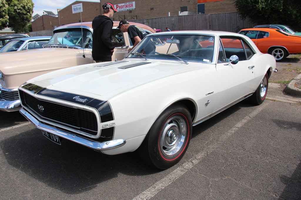
[[[148,33],[155,32],[147,25],[129,23]],[[118,25],[119,22],[113,23],[112,41],[116,47],[112,60],[122,60],[132,46],[128,34],[122,33]],[[92,22],[63,25],[53,33],[43,49],[0,54],[0,111],[20,109],[18,87],[28,79],[66,67],[95,63],[92,59]]]

